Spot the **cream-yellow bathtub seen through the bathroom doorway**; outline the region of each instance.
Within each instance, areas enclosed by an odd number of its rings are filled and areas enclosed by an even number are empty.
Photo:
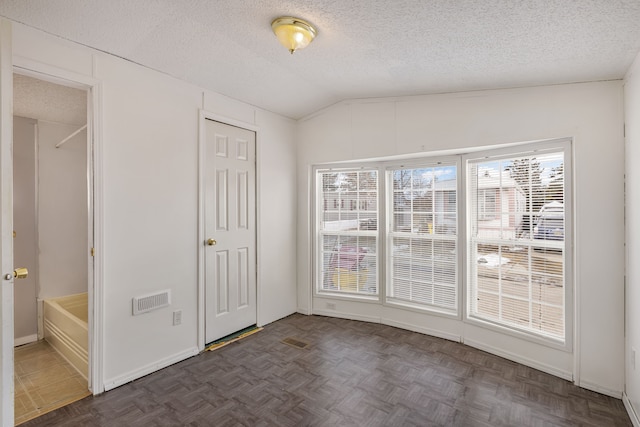
[[[89,332],[87,293],[45,299],[44,339],[87,378]]]

